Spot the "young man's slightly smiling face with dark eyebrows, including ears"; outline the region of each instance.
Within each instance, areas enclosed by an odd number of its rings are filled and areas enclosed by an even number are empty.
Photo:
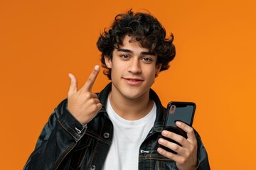
[[[114,49],[112,60],[105,57],[107,67],[112,69],[112,93],[127,99],[148,97],[161,64],[156,64],[154,53],[141,47],[136,40],[129,40],[131,37],[126,35],[123,45]]]

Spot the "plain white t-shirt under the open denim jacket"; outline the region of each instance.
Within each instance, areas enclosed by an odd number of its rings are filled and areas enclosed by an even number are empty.
[[[104,170],[136,170],[139,166],[139,147],[156,119],[156,103],[151,111],[139,120],[125,120],[114,112],[107,100],[107,113],[114,125],[114,136],[107,154]]]

